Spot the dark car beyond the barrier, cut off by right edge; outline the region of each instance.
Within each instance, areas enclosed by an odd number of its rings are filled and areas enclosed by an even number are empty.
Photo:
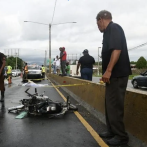
[[[131,82],[134,88],[147,87],[147,71],[133,77]]]

